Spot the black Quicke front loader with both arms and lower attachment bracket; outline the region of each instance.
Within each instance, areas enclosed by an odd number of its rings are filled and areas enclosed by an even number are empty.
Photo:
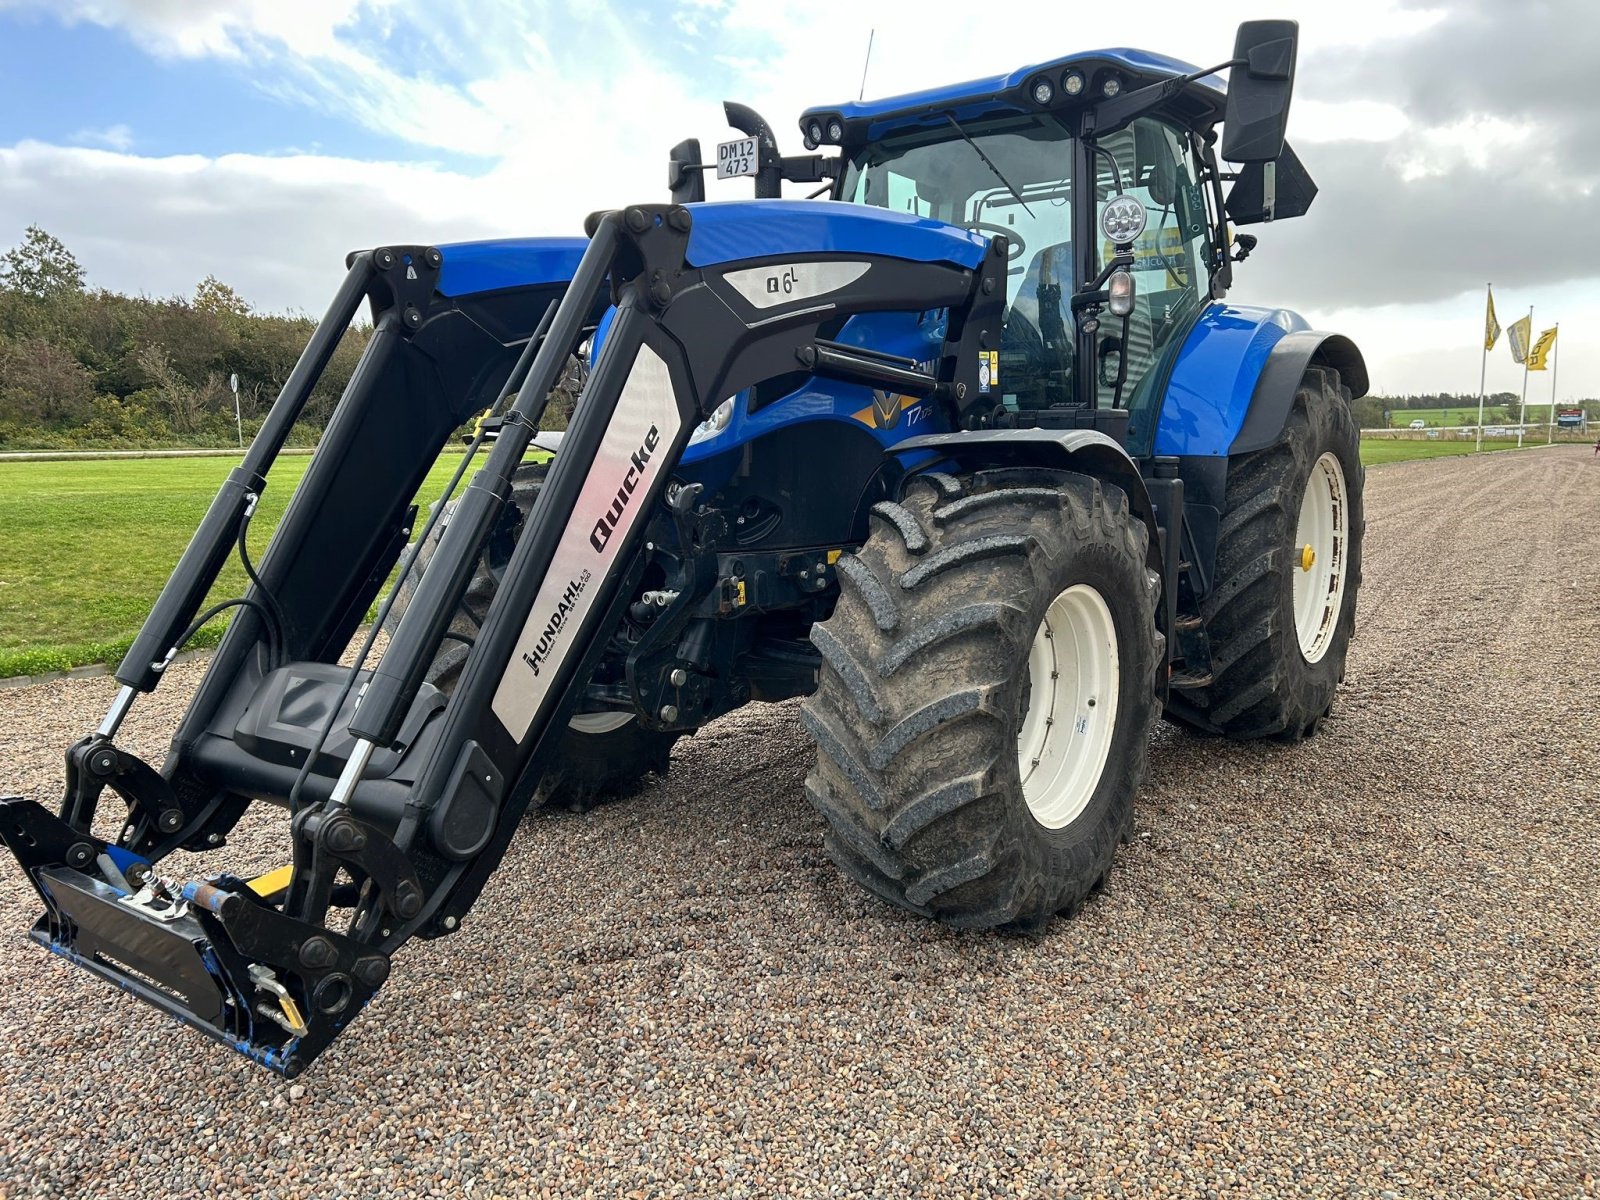
[[[106,722],[69,750],[59,813],[0,800],[0,840],[45,906],[35,941],[299,1074],[384,984],[400,946],[458,930],[477,901],[579,701],[574,682],[634,600],[645,518],[678,498],[674,470],[698,422],[798,368],[880,382],[880,358],[829,338],[864,312],[947,309],[933,376],[899,382],[946,405],[952,424],[992,403],[979,360],[998,346],[1003,238],[826,202],[642,205],[590,218],[589,235],[571,283],[549,280],[560,302],[520,339],[437,286],[450,248],[357,256],[330,312],[334,333],[318,331],[269,416],[270,435],[218,496],[118,669],[123,690]],[[253,606],[155,771],[117,747],[122,718],[160,683],[330,336],[363,296],[373,349],[262,560]],[[424,670],[546,397],[606,301],[616,315],[562,453],[446,698]],[[486,462],[381,659],[371,670],[336,666],[411,533],[410,496],[485,386],[506,400]],[[126,805],[110,840],[93,824],[107,789]],[[222,850],[262,802],[288,810],[285,869],[246,880]],[[203,853],[206,872],[163,874],[178,848]]]

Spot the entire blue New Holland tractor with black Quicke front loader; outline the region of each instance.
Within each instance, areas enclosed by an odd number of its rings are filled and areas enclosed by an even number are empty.
[[[1074,54],[811,109],[794,157],[728,106],[741,138],[680,144],[672,203],[587,237],[352,254],[59,810],[0,802],[32,936],[294,1075],[408,939],[459,928],[530,803],[795,696],[845,875],[957,926],[1074,912],[1162,714],[1298,739],[1344,672],[1362,357],[1224,299],[1256,246],[1235,229],[1315,194],[1283,139],[1294,59],[1286,21],[1211,70]],[[704,203],[707,171],[757,198]],[[370,346],[254,563],[362,304]],[[414,504],[462,429],[467,485]],[[235,547],[246,594],[202,608]],[[141,762],[123,718],[224,610]],[[283,866],[246,878],[227,840],[261,803]]]

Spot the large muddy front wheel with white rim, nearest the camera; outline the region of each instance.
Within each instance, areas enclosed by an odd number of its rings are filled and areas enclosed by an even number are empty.
[[[1131,835],[1163,661],[1146,526],[1046,470],[917,477],[872,514],[811,632],[824,846],[901,907],[1042,928]]]

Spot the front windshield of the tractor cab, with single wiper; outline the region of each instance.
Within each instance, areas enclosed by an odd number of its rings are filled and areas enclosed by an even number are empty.
[[[1072,136],[1050,117],[922,130],[864,149],[845,171],[846,200],[1006,235],[1000,386],[1013,408],[1072,400],[1070,176]]]

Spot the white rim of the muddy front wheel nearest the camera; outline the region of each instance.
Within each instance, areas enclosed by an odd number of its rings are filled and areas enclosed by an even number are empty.
[[[1117,627],[1088,584],[1045,610],[1027,651],[1027,714],[1016,739],[1022,798],[1045,829],[1088,808],[1117,731]]]

